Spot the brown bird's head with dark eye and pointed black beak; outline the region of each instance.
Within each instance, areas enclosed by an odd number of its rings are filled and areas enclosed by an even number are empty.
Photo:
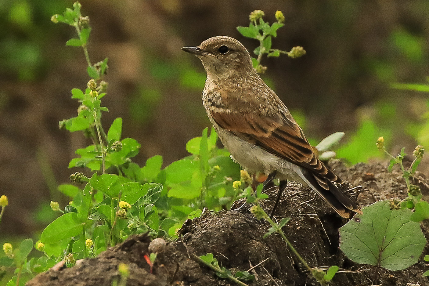
[[[199,46],[183,47],[182,50],[196,55],[212,79],[256,73],[248,50],[231,37],[211,37]]]

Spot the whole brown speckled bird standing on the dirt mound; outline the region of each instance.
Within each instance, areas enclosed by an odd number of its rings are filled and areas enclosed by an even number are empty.
[[[248,50],[238,40],[218,36],[196,47],[207,73],[202,102],[231,158],[248,172],[268,175],[264,189],[280,180],[274,214],[287,180],[311,186],[342,217],[362,213],[336,184],[343,180],[314,154],[284,103],[260,78]]]

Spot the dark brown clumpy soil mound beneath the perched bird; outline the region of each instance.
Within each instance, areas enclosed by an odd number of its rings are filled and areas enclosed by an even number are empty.
[[[371,204],[384,198],[405,198],[405,182],[398,171],[390,173],[381,164],[357,164],[346,168],[338,161],[332,163],[336,172],[353,185],[363,189],[351,192],[360,204]],[[429,195],[428,181],[423,175],[414,180],[424,195]],[[348,189],[347,184],[342,186]],[[275,198],[277,190],[270,192]],[[262,207],[268,212],[272,201],[266,200]],[[332,285],[383,285],[406,286],[417,283],[429,286],[421,275],[426,271],[423,259],[404,271],[387,271],[369,265],[358,265],[348,260],[338,249],[338,228],[346,220],[341,219],[310,188],[290,182],[284,192],[275,217],[290,217],[284,231],[297,251],[312,267],[338,265],[341,269],[332,280]],[[60,271],[49,270],[39,274],[27,285],[110,286],[118,279],[118,264],[130,265],[128,286],[137,285],[235,285],[217,277],[213,271],[191,259],[213,253],[219,263],[234,271],[251,270],[256,280],[248,282],[254,286],[310,286],[318,285],[302,268],[279,235],[263,238],[269,224],[258,221],[248,211],[221,211],[204,213],[200,218],[187,221],[181,229],[181,237],[168,243],[160,253],[152,274],[144,259],[150,240],[145,234],[127,239],[95,259],[87,259],[79,266]],[[423,223],[423,233],[429,238],[428,224]],[[425,252],[424,252],[425,253]]]

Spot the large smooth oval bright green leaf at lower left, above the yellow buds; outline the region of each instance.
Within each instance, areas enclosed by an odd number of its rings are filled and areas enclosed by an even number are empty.
[[[55,243],[82,233],[83,223],[76,213],[66,213],[51,222],[42,232],[40,241]]]

